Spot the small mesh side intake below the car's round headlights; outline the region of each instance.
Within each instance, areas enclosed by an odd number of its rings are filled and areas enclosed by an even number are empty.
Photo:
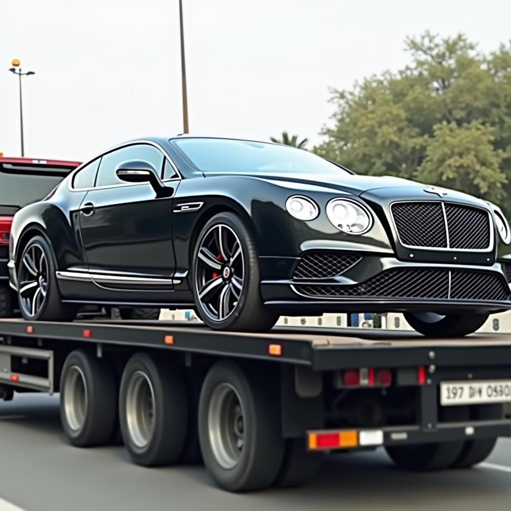
[[[357,264],[362,257],[353,253],[309,252],[294,270],[294,278],[337,277]]]

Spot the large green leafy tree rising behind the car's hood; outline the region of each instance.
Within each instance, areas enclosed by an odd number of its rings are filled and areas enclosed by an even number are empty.
[[[511,213],[511,44],[483,55],[465,36],[408,38],[411,63],[333,90],[314,151],[358,173],[443,185]]]

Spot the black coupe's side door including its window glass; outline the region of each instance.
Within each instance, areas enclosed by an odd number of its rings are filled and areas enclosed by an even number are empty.
[[[166,284],[172,288],[172,198],[156,198],[149,183],[121,181],[115,169],[128,160],[146,161],[161,175],[166,157],[149,144],[129,145],[103,155],[95,188],[80,206],[88,271],[96,284],[110,289],[152,290],[153,285]],[[175,189],[177,183],[166,186]]]

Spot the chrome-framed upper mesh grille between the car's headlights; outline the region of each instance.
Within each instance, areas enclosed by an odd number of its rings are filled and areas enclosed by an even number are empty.
[[[486,250],[492,229],[487,211],[452,202],[396,202],[391,214],[401,243],[408,247]]]

